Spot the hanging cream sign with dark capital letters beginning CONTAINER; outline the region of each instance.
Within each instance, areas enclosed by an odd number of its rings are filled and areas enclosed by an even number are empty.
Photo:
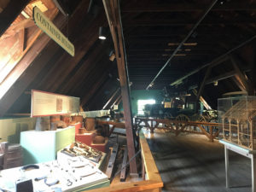
[[[74,56],[73,44],[62,34],[62,32],[38,9],[33,8],[33,20],[35,24],[42,29],[49,38],[55,40],[70,55]]]

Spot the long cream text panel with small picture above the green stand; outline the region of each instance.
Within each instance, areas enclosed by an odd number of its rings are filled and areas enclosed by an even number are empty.
[[[32,90],[31,117],[79,112],[80,98]]]

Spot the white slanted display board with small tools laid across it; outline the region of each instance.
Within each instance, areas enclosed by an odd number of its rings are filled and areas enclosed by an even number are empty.
[[[20,171],[21,167],[3,170],[0,172],[2,176],[0,188],[15,191],[15,183],[18,180],[29,179],[32,179],[34,191],[52,191],[57,188],[65,192],[84,191],[109,186],[107,175],[88,160],[76,159],[66,162],[53,160],[37,165],[38,169],[27,171]],[[49,186],[46,184],[46,179],[55,180],[55,183]]]

